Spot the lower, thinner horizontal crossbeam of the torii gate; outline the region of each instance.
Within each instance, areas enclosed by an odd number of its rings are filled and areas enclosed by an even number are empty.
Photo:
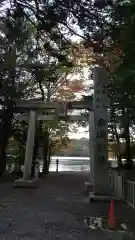
[[[29,120],[29,116],[28,114],[25,115],[17,115],[15,116],[15,119],[18,121],[28,121]],[[88,120],[88,116],[87,115],[59,115],[59,116],[55,116],[55,115],[37,115],[36,120],[38,121],[87,121]]]

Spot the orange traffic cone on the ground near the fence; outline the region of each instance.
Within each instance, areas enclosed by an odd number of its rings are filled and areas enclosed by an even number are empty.
[[[109,209],[109,219],[108,219],[108,228],[115,229],[116,219],[114,212],[114,200],[111,200],[110,209]]]

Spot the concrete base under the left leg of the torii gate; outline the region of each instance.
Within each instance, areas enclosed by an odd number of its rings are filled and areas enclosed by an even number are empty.
[[[15,188],[37,188],[38,183],[39,183],[38,179],[30,179],[30,180],[17,179],[14,182],[14,187]]]

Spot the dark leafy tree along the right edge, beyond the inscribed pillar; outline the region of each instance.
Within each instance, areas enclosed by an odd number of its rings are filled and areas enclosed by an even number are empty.
[[[122,17],[121,17],[122,16]],[[115,54],[119,56],[119,64],[110,74],[109,94],[111,113],[115,124],[115,136],[118,146],[121,139],[125,141],[126,166],[132,167],[131,129],[134,126],[134,3],[119,1],[112,11],[113,25],[111,38],[113,46],[117,47]],[[122,54],[121,54],[122,53]],[[117,124],[117,125],[116,125]],[[118,133],[118,131],[121,131]]]

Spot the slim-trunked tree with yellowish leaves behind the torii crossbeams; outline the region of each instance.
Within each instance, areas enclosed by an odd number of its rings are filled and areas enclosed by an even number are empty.
[[[48,63],[49,64],[49,63]],[[55,65],[56,70],[52,72],[52,68],[48,68],[48,74],[46,75],[46,78],[42,78],[42,81],[40,82],[42,86],[41,91],[41,97],[43,100],[46,101],[71,101],[75,99],[75,94],[72,92],[71,88],[71,82],[69,83],[69,80],[66,79],[66,75],[68,74],[70,68],[68,69],[68,72],[62,73],[59,69],[59,65]],[[50,69],[50,71],[49,71]],[[51,79],[53,73],[53,78],[55,78],[54,82],[51,82],[49,79]],[[36,75],[37,77],[37,75]],[[38,81],[38,80],[37,80]],[[79,84],[79,80],[77,81]],[[80,83],[81,84],[81,83]],[[75,84],[74,84],[75,85]],[[78,85],[79,86],[79,85]],[[81,86],[82,87],[82,86]],[[40,88],[41,89],[41,88]],[[43,90],[44,89],[44,90]],[[57,109],[59,111],[59,109]],[[46,112],[46,114],[52,114],[52,111]],[[54,112],[54,115],[57,114]],[[69,123],[57,123],[55,120],[55,123],[47,123],[45,124],[40,123],[39,131],[44,132],[44,164],[43,164],[43,173],[48,173],[48,167],[50,162],[50,159],[48,158],[49,150],[52,151],[54,149],[54,144],[56,142],[61,142],[65,145],[65,137],[67,138],[67,133],[70,130]],[[56,129],[56,130],[55,130]],[[52,132],[56,134],[56,140],[54,139],[54,135]],[[53,137],[53,139],[52,139]]]

